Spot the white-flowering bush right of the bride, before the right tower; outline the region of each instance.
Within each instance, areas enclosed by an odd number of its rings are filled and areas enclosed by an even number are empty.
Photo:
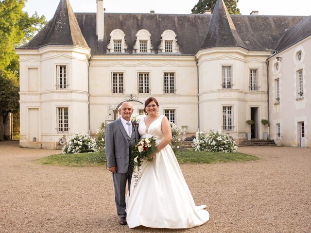
[[[235,141],[221,130],[211,129],[208,136],[203,132],[197,132],[195,136],[192,146],[194,151],[237,152],[238,147]]]

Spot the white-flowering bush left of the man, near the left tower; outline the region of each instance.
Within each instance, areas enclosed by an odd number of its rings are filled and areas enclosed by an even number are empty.
[[[87,133],[75,133],[68,138],[68,143],[62,150],[63,154],[94,152],[96,142]]]

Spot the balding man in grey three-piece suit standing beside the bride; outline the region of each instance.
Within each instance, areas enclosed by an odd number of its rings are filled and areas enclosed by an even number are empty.
[[[121,118],[107,124],[105,135],[105,151],[109,167],[112,172],[115,187],[115,201],[119,223],[126,224],[125,189],[128,182],[130,192],[132,168],[130,167],[131,148],[139,139],[138,128],[133,127],[131,116],[133,106],[129,102],[122,103],[119,112]]]

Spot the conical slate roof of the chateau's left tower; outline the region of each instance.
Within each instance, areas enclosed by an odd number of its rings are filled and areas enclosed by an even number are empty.
[[[49,23],[30,42],[19,49],[37,49],[45,45],[76,45],[89,48],[69,0],[60,0],[54,17]]]

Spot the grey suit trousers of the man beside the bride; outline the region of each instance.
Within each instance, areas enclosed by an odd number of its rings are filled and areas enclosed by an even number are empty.
[[[115,201],[119,217],[126,217],[125,189],[127,182],[128,192],[130,192],[132,173],[132,169],[129,169],[126,173],[112,173],[113,184],[115,187]]]

